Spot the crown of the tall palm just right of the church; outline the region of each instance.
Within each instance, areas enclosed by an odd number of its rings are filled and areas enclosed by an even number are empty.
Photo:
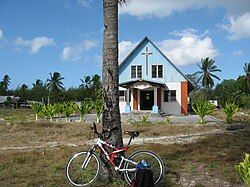
[[[220,80],[219,77],[217,77],[216,75],[213,74],[214,72],[221,71],[214,64],[215,64],[215,61],[213,59],[209,59],[209,57],[207,57],[205,59],[201,59],[201,65],[198,64],[201,71],[198,71],[195,73],[195,74],[200,75],[197,82],[201,81],[201,85],[206,89],[206,91],[213,88],[213,86],[214,86],[213,78]]]

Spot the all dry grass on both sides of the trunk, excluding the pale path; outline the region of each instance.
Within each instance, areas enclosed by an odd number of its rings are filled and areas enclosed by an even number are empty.
[[[28,110],[15,110],[14,114],[13,111],[4,112],[6,114],[3,116],[1,111],[0,118],[14,115],[18,116],[18,120],[10,124],[0,121],[0,148],[46,145],[48,142],[75,143],[81,146],[62,145],[55,148],[0,151],[0,186],[68,186],[65,165],[73,153],[88,148],[83,142],[93,138],[90,135],[89,125],[27,122],[26,117],[32,117]],[[24,118],[23,115],[27,115],[26,122],[20,120]],[[140,136],[171,136],[207,132],[218,128],[225,129],[226,125],[123,124],[123,131],[139,130]],[[183,178],[189,182],[191,179],[194,180],[194,186],[213,186],[209,182],[214,178],[227,181],[231,185],[238,185],[241,184],[241,179],[235,172],[234,165],[241,161],[244,152],[250,152],[250,133],[237,131],[223,135],[206,135],[189,144],[132,146],[128,154],[139,149],[152,150],[164,161],[167,172],[161,186],[180,186],[184,183]],[[190,183],[186,186],[189,185]],[[125,187],[127,184],[123,180],[116,179],[113,184],[99,182],[96,186]]]

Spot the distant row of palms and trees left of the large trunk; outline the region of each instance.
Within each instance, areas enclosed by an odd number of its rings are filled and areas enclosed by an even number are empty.
[[[79,87],[66,89],[63,84],[64,77],[59,72],[49,74],[44,82],[37,79],[32,87],[26,84],[16,89],[9,89],[11,78],[5,75],[0,82],[0,96],[17,96],[20,101],[32,100],[43,103],[57,103],[63,101],[83,101],[86,98],[96,100],[101,95],[101,78],[99,75],[87,75],[81,80]]]

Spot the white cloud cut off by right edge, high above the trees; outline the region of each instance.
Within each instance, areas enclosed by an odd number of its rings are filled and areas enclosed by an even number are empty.
[[[222,24],[221,27],[229,34],[229,40],[239,40],[243,38],[250,38],[250,12],[241,16],[228,16],[227,24]]]

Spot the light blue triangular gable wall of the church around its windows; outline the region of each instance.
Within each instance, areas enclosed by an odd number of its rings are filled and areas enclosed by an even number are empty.
[[[146,48],[152,53],[148,55],[148,75],[146,75],[146,57],[142,54],[145,53]],[[143,80],[153,80],[160,83],[188,80],[147,37],[145,37],[120,64],[119,83],[137,80],[137,78],[131,78],[131,66],[133,65],[142,66]],[[152,65],[163,65],[163,78],[152,78]]]

